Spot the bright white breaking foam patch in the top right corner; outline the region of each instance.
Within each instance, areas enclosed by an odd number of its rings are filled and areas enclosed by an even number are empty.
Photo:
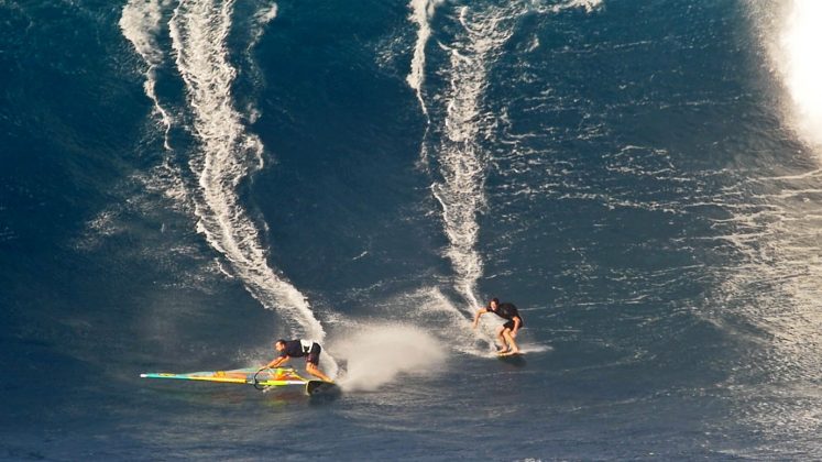
[[[822,2],[793,0],[787,11],[775,61],[793,103],[794,124],[801,136],[822,147]]]

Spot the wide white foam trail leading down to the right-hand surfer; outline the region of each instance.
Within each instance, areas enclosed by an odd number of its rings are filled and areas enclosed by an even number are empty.
[[[467,310],[480,306],[476,284],[483,273],[475,249],[479,211],[485,206],[487,154],[480,144],[483,131],[493,121],[482,112],[487,73],[502,45],[511,37],[505,28],[507,12],[459,14],[462,34],[447,47],[450,57],[450,88],[446,91],[443,136],[437,148],[441,182],[431,186],[442,207],[445,232],[450,245],[446,256],[457,273],[456,289],[468,302]]]

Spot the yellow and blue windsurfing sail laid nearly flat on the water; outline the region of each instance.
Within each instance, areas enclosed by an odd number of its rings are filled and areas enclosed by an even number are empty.
[[[140,374],[140,376],[143,378],[175,378],[180,381],[254,385],[256,388],[303,386],[305,387],[305,392],[308,395],[313,395],[316,393],[316,391],[319,389],[326,389],[329,385],[333,386],[333,384],[330,384],[328,382],[309,381],[308,378],[305,378],[297,374],[297,372],[292,367],[262,370],[255,367],[246,367],[234,369],[230,371],[189,372],[184,374],[175,374],[168,372],[150,372]]]

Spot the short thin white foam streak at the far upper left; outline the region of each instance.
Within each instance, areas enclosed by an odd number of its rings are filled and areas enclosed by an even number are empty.
[[[163,64],[163,59],[165,58],[157,43],[157,34],[160,33],[163,20],[163,8],[167,6],[168,1],[166,0],[131,0],[123,8],[123,13],[120,16],[120,29],[123,36],[134,45],[134,50],[149,66],[145,70],[143,89],[149,99],[154,103],[154,112],[160,116],[165,128],[163,145],[166,151],[172,151],[168,133],[174,120],[160,103],[156,92],[157,67]]]

